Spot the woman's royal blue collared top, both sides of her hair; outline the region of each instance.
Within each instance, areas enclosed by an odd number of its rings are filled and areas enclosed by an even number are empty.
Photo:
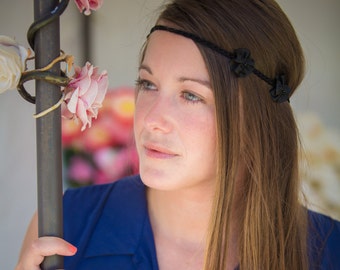
[[[311,269],[340,269],[340,223],[309,212]],[[158,270],[139,176],[71,189],[64,195],[64,238],[77,246],[65,269]]]

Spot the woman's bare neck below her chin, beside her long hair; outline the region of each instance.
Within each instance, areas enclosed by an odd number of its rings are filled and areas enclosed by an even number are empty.
[[[148,189],[148,208],[155,237],[205,246],[213,188],[161,191]]]

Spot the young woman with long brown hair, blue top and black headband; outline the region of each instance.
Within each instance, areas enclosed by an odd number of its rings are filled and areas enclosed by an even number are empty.
[[[17,269],[340,269],[340,224],[299,201],[303,75],[276,2],[173,0],[141,55],[140,175],[67,191],[66,241],[34,217]]]

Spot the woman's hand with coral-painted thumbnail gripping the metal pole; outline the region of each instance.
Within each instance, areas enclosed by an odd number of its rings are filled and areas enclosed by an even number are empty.
[[[32,242],[23,250],[15,270],[40,270],[46,256],[72,256],[77,248],[62,238],[44,236]]]

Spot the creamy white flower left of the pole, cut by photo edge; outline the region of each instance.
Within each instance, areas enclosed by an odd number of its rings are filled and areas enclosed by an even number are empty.
[[[14,39],[0,35],[0,94],[17,88],[30,51]]]

